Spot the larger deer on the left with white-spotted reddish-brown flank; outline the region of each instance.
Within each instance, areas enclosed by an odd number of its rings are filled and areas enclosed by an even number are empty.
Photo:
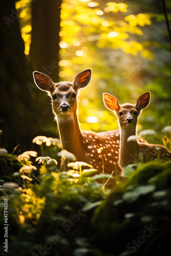
[[[87,69],[77,74],[74,81],[54,83],[51,78],[40,72],[33,72],[34,81],[42,91],[47,91],[52,98],[53,112],[58,124],[62,149],[73,153],[77,161],[87,162],[105,173],[121,172],[118,165],[119,130],[93,133],[80,131],[77,117],[77,94],[88,86],[92,70]],[[98,148],[103,147],[101,154]],[[67,170],[67,161],[62,159],[62,170]]]

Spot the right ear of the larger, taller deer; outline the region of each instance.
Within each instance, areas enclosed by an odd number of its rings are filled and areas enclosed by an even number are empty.
[[[73,82],[74,86],[77,89],[81,89],[81,88],[88,86],[88,84],[91,80],[91,77],[92,77],[91,69],[86,69],[86,70],[82,71],[81,73],[76,75],[74,82]]]

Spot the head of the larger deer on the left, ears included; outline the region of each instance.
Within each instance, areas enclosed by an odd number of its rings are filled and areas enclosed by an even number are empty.
[[[74,81],[54,83],[45,74],[34,71],[33,77],[36,86],[48,92],[52,98],[52,106],[56,115],[66,115],[77,110],[77,93],[79,89],[88,86],[91,80],[92,70],[87,69],[77,74]]]

